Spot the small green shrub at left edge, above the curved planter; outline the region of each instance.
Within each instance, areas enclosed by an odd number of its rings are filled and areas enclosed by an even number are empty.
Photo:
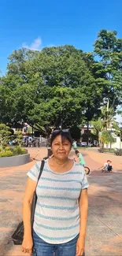
[[[9,143],[11,132],[9,132],[9,127],[6,124],[0,124],[0,147],[2,153],[6,147],[6,144]]]

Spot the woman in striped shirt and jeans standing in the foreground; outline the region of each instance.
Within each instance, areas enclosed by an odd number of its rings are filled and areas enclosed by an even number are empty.
[[[87,226],[87,177],[83,166],[68,158],[72,148],[69,132],[54,131],[53,158],[45,161],[37,184],[41,161],[28,172],[24,195],[24,241],[22,250],[33,256],[82,255]],[[35,187],[37,203],[31,234],[31,199]]]

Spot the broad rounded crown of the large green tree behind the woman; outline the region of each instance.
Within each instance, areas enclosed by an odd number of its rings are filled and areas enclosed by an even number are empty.
[[[62,122],[63,127],[71,127],[84,121],[87,110],[90,119],[94,117],[102,102],[102,89],[83,52],[73,46],[14,51],[0,91],[6,91],[8,101],[2,93],[4,121],[12,124],[33,119],[42,126]]]

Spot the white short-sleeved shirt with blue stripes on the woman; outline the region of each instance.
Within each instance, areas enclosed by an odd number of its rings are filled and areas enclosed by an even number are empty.
[[[37,181],[41,161],[28,172]],[[45,161],[42,176],[36,188],[35,233],[46,243],[67,243],[79,234],[78,198],[88,187],[82,165],[74,163],[67,173],[55,173]]]

